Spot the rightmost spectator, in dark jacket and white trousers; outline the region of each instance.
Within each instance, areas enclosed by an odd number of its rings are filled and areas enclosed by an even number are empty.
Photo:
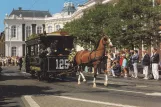
[[[157,49],[153,48],[152,50],[152,57],[151,57],[151,62],[152,62],[152,73],[153,73],[153,77],[155,80],[159,80],[159,70],[158,70],[158,66],[159,66],[159,54],[157,53]]]

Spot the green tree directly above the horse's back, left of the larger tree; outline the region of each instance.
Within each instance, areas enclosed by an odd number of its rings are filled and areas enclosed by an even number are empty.
[[[84,11],[83,17],[73,20],[64,26],[64,30],[75,36],[77,43],[83,47],[96,46],[102,36],[105,20],[108,19],[108,7],[96,5],[92,9]]]

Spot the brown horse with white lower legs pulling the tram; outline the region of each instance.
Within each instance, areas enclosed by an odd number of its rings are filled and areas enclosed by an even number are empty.
[[[88,51],[88,50],[83,50],[83,51],[78,51],[75,55],[75,65],[78,65],[79,67],[82,68],[82,65],[86,64],[92,64],[94,68],[94,80],[93,80],[93,87],[96,87],[96,76],[97,76],[97,67],[98,64],[101,62],[101,59],[103,56],[105,56],[105,45],[109,44],[110,45],[110,40],[107,38],[107,36],[103,36],[100,41],[99,45],[96,50],[94,51]],[[107,81],[108,81],[108,76],[107,76],[107,70],[105,72],[105,83],[104,85],[107,86]],[[86,79],[82,73],[82,69],[79,70],[79,76],[78,76],[78,84],[80,84],[80,78],[83,78],[83,81],[85,82]]]

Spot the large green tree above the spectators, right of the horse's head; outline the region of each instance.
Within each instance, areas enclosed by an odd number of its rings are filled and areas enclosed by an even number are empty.
[[[153,7],[149,0],[120,0],[111,7],[111,20],[106,32],[117,47],[133,48],[142,43],[148,47],[151,41],[155,41],[152,38],[159,37],[154,32],[159,9],[159,6]]]

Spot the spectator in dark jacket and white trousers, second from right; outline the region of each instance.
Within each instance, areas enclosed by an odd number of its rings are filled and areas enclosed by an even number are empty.
[[[150,66],[150,56],[147,53],[146,50],[143,50],[143,59],[142,59],[142,65],[143,65],[143,74],[144,74],[144,79],[148,79],[148,73],[149,73],[149,66]]]

